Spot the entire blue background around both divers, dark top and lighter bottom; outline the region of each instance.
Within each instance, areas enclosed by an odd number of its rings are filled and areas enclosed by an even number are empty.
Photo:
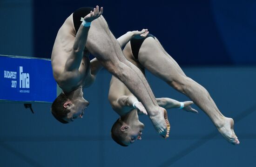
[[[222,113],[235,119],[241,144],[225,141],[201,110],[193,115],[173,109],[167,140],[142,116],[142,141],[120,147],[109,135],[118,116],[107,100],[111,76],[103,70],[85,92],[90,106],[84,118],[72,124],[56,122],[50,104],[33,104],[32,114],[22,103],[1,103],[0,166],[254,167],[256,1],[1,0],[0,54],[50,58],[67,16],[98,4],[116,37],[142,28],[157,36]],[[148,81],[156,97],[189,100],[150,74]]]

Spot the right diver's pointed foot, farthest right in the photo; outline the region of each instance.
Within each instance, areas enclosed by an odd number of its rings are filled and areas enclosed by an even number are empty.
[[[222,136],[229,141],[231,144],[239,144],[235,132],[234,132],[234,120],[232,118],[224,117],[221,122],[216,125],[218,131],[222,134]]]

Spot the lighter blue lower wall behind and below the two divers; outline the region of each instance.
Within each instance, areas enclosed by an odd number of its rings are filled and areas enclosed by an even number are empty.
[[[256,155],[255,67],[184,68],[209,90],[225,116],[235,119],[240,145],[233,146],[217,132],[209,118],[173,109],[168,111],[171,135],[157,135],[147,116],[142,140],[123,148],[112,141],[110,129],[118,118],[107,101],[110,75],[101,71],[85,90],[90,102],[83,119],[57,122],[50,104],[1,104],[0,164],[3,167],[254,167]],[[187,97],[148,75],[156,97]],[[161,86],[160,86],[161,85]],[[195,105],[193,106],[195,107]],[[195,109],[198,109],[195,107]]]

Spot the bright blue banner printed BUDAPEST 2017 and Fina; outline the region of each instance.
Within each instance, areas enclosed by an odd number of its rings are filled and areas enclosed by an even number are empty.
[[[0,55],[0,101],[52,103],[57,95],[50,59]]]

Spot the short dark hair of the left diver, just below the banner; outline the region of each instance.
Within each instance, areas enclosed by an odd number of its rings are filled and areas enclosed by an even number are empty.
[[[56,120],[60,121],[61,123],[68,123],[63,118],[67,117],[67,113],[70,111],[67,108],[64,108],[64,103],[67,102],[67,96],[62,92],[53,102],[52,104],[52,114]]]

